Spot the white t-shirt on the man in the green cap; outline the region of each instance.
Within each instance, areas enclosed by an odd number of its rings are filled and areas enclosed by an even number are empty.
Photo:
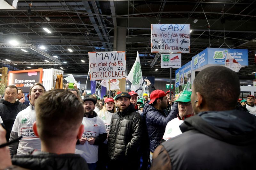
[[[168,139],[171,139],[173,137],[176,137],[176,136],[182,134],[182,132],[180,130],[181,123],[183,123],[183,121],[180,120],[178,117],[176,117],[175,119],[172,119],[170,122],[168,122],[165,127],[163,139],[167,141]]]

